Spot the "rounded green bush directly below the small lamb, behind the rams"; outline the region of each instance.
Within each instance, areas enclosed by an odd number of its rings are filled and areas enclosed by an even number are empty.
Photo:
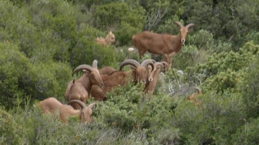
[[[77,42],[71,50],[70,64],[73,68],[81,65],[92,65],[94,59],[98,60],[99,66],[110,66],[114,62],[114,48],[111,45],[102,47],[94,41],[94,37],[101,34],[89,25],[80,25],[77,34]]]

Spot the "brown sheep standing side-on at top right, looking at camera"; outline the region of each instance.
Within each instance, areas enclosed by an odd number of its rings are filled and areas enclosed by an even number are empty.
[[[194,26],[194,24],[183,26],[177,21],[174,23],[180,27],[178,35],[157,34],[148,31],[134,35],[131,39],[132,45],[138,49],[140,57],[146,52],[161,54],[163,61],[168,63],[168,69],[170,69],[172,56],[182,48],[182,44],[185,42],[185,37],[188,33],[188,28]]]

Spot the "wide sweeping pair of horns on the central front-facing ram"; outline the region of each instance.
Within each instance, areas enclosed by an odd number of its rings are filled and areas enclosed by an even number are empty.
[[[134,66],[135,68],[137,67],[140,67],[140,66],[147,66],[147,65],[151,65],[152,67],[152,70],[154,69],[154,62],[155,60],[153,59],[146,59],[144,60],[141,64],[139,62],[137,62],[136,60],[134,59],[127,59],[127,60],[124,60],[120,66],[119,66],[119,70],[122,70],[123,66],[129,64],[129,65],[132,65]]]

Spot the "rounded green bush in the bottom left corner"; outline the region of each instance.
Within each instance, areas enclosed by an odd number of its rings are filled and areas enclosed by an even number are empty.
[[[0,109],[0,144],[25,144],[23,138],[26,132],[17,124],[13,117],[3,109]]]

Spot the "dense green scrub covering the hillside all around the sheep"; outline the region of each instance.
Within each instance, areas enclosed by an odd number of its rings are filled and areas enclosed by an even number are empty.
[[[258,144],[258,7],[257,0],[0,1],[0,144]],[[173,21],[195,27],[154,95],[142,84],[115,88],[88,124],[41,113],[45,98],[67,103],[80,64],[160,61],[127,49],[143,30],[176,35]],[[109,31],[116,43],[97,45]],[[197,106],[186,99],[196,86]]]

